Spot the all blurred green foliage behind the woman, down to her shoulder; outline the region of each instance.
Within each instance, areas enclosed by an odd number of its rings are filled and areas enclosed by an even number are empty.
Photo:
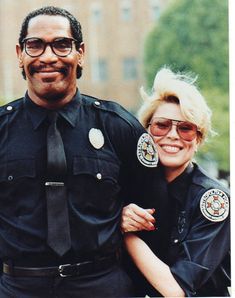
[[[228,171],[227,0],[175,0],[147,36],[144,65],[148,87],[163,65],[198,75],[218,133],[201,149],[199,158],[210,156],[219,169]]]

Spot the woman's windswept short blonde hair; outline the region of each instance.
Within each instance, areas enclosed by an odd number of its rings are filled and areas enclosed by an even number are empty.
[[[185,119],[197,125],[200,132],[198,142],[202,143],[212,132],[212,113],[194,85],[196,79],[188,74],[174,73],[167,67],[160,69],[154,79],[152,94],[148,95],[143,87],[140,89],[144,103],[137,115],[142,125],[147,129],[153,114],[162,103],[177,103]]]

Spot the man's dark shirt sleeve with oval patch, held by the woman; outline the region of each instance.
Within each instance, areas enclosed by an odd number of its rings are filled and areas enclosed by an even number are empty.
[[[134,117],[129,117],[129,123],[121,118],[117,122],[110,121],[109,135],[121,161],[121,198],[126,205],[136,203],[152,208],[150,196],[156,191],[154,176],[158,172],[153,139]]]

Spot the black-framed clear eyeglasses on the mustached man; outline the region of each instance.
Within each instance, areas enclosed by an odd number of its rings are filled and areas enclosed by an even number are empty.
[[[41,56],[46,47],[49,45],[52,52],[59,57],[66,57],[72,52],[73,42],[77,42],[74,38],[60,37],[56,38],[51,42],[46,42],[45,40],[37,37],[25,38],[22,41],[24,49],[27,55],[30,57]]]

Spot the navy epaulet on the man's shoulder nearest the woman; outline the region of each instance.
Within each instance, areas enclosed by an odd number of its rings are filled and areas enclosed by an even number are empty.
[[[102,100],[85,94],[82,94],[82,98],[84,100],[84,103],[87,102],[87,104],[93,106],[98,110],[115,114],[116,116],[126,121],[132,127],[140,125],[139,121],[117,102],[114,102],[112,100]]]

